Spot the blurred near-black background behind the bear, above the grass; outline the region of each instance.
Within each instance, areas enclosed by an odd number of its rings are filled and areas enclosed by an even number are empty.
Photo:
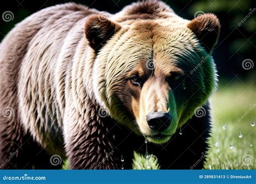
[[[70,1],[60,0],[44,0],[44,1],[26,1],[26,0],[11,0],[1,1],[1,23],[0,23],[0,40],[15,26],[16,23],[21,22],[25,17],[32,13],[44,9],[55,4],[66,3]],[[86,1],[72,1],[89,6],[102,11],[116,13],[120,11],[125,5],[129,5],[135,1],[124,0],[86,0]],[[217,69],[221,80],[242,80],[255,81],[254,66],[250,70],[244,70],[242,61],[251,59],[253,65],[255,63],[255,31],[256,31],[256,1],[164,1],[169,4],[171,8],[180,17],[186,19],[193,19],[195,13],[198,11],[212,12],[218,16],[221,23],[221,32],[219,43],[215,47],[213,57],[217,63]],[[14,19],[9,22],[3,21],[3,13],[11,11],[14,14]],[[251,12],[251,14],[250,14]],[[250,15],[250,17],[247,17]],[[238,24],[242,19],[246,18],[244,23]]]

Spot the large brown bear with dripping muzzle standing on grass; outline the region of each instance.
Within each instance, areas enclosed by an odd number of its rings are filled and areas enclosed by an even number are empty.
[[[1,168],[59,168],[57,154],[71,169],[129,169],[146,139],[161,168],[189,169],[207,150],[219,29],[158,1],[24,19],[0,48]]]

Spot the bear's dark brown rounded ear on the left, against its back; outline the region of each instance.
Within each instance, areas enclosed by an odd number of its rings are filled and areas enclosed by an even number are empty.
[[[106,41],[120,29],[121,26],[110,21],[107,16],[92,15],[86,20],[84,32],[92,49],[98,52]]]

